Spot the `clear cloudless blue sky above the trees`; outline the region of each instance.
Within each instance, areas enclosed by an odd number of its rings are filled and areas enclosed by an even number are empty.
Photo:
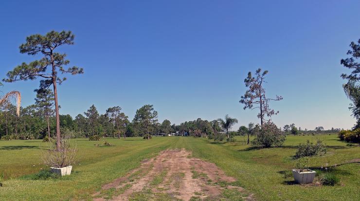
[[[64,47],[85,74],[59,87],[60,113],[73,117],[91,104],[100,113],[120,105],[130,119],[153,104],[172,123],[229,114],[239,125],[259,122],[238,102],[248,71],[269,70],[273,121],[303,129],[350,128],[340,65],[360,38],[359,0],[106,0],[0,2],[0,77],[39,58],[20,54],[26,36],[71,30]],[[4,83],[34,103],[38,81]]]

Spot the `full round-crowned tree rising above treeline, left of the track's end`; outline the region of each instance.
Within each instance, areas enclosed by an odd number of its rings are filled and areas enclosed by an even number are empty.
[[[136,110],[133,122],[139,126],[140,130],[144,134],[144,138],[149,140],[150,132],[158,122],[158,112],[154,110],[153,105],[144,105],[140,109]]]

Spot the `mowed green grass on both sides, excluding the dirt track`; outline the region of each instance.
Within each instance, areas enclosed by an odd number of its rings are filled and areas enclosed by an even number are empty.
[[[332,172],[341,184],[309,186],[294,184],[284,171],[294,167],[292,158],[296,146],[307,139],[319,137],[328,146],[323,156],[310,158],[316,169],[337,164]],[[283,147],[251,149],[244,137],[234,143],[214,142],[193,137],[154,137],[106,139],[112,147],[95,147],[101,143],[87,139],[73,139],[79,150],[79,160],[71,176],[62,180],[24,180],[22,175],[36,173],[41,165],[40,155],[47,148],[41,140],[0,141],[0,174],[5,181],[0,187],[0,200],[91,200],[91,194],[130,169],[140,166],[145,158],[154,157],[165,149],[185,148],[193,156],[215,163],[229,176],[255,194],[257,200],[360,200],[360,164],[349,163],[360,158],[360,147],[347,146],[336,134],[288,136]]]

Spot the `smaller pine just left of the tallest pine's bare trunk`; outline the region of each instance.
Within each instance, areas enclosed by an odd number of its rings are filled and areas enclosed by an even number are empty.
[[[50,139],[49,118],[55,113],[54,111],[54,94],[51,89],[35,90],[37,92],[35,104],[41,116],[45,117],[48,125],[48,137]]]

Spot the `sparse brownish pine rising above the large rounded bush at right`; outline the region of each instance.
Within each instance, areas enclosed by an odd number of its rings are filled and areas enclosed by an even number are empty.
[[[244,96],[241,96],[240,103],[244,104],[244,110],[246,108],[255,109],[258,108],[260,113],[257,115],[260,118],[261,126],[263,125],[265,116],[271,118],[272,115],[276,115],[279,111],[275,112],[270,109],[269,101],[280,101],[283,99],[281,96],[277,96],[275,99],[269,99],[265,96],[265,89],[263,84],[265,83],[265,75],[268,74],[268,71],[265,70],[261,72],[261,68],[255,71],[255,77],[252,77],[252,73],[248,73],[248,77],[245,79],[245,86],[249,89],[245,92]],[[258,106],[255,106],[258,105]],[[270,120],[270,119],[269,119]]]

